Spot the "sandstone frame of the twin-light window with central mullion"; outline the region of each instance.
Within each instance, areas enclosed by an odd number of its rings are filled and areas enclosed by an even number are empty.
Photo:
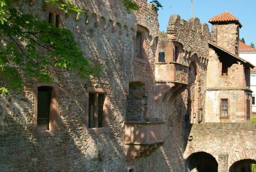
[[[103,102],[103,121],[102,121],[102,127],[89,127],[89,94],[90,93],[96,93],[97,95],[103,94],[104,95],[104,102]],[[99,129],[105,129],[108,127],[108,103],[109,103],[109,90],[103,89],[103,88],[97,88],[97,87],[87,87],[86,89],[86,125],[88,129],[91,130],[99,130]],[[97,110],[95,112],[95,115],[97,113]],[[97,126],[97,120],[96,120],[96,126]]]

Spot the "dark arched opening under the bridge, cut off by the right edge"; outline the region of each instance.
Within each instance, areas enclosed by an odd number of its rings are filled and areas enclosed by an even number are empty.
[[[243,159],[234,162],[230,168],[229,172],[251,172],[251,164],[256,164],[256,160]]]

